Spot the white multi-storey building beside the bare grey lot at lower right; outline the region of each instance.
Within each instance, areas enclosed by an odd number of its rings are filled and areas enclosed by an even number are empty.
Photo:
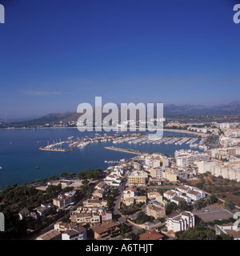
[[[184,211],[180,214],[176,214],[171,218],[166,219],[167,230],[172,230],[174,232],[185,231],[190,227],[195,226],[195,216],[194,214]]]

